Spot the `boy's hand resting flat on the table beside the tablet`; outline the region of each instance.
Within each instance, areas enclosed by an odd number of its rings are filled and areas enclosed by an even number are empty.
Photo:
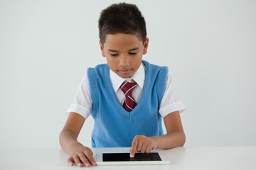
[[[72,152],[68,158],[68,164],[71,166],[77,164],[80,167],[82,167],[82,164],[85,164],[85,166],[90,167],[91,165],[95,166],[96,162],[93,158],[93,152],[89,147],[76,145],[72,148]]]

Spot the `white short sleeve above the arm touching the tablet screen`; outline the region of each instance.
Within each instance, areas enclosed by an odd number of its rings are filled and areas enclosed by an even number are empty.
[[[168,74],[166,80],[166,89],[164,91],[164,96],[160,103],[159,113],[162,118],[164,118],[169,113],[174,111],[183,112],[186,106],[182,101],[179,101],[176,92],[174,90],[174,83],[172,82],[171,76]]]

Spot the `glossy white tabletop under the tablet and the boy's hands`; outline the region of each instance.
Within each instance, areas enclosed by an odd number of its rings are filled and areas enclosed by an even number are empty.
[[[103,152],[127,152],[129,148],[97,148]],[[95,150],[97,150],[95,149]],[[254,147],[178,147],[165,152],[170,160],[167,165],[92,166],[89,169],[256,169]],[[65,170],[81,169],[70,166],[68,154],[62,149],[0,149],[1,170]],[[88,169],[83,167],[82,169]]]

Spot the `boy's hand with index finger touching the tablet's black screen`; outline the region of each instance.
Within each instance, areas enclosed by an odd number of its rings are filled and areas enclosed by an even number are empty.
[[[134,157],[137,152],[150,153],[152,149],[156,149],[156,140],[154,138],[136,135],[132,141],[130,157]]]

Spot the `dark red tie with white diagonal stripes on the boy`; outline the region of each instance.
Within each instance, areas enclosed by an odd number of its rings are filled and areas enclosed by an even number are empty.
[[[135,106],[137,105],[136,101],[132,97],[132,91],[135,89],[136,86],[137,86],[136,82],[126,82],[126,81],[124,81],[124,83],[120,86],[120,89],[124,92],[124,95],[125,95],[123,108],[126,111],[129,111],[129,112],[132,111],[132,109],[134,109]]]

